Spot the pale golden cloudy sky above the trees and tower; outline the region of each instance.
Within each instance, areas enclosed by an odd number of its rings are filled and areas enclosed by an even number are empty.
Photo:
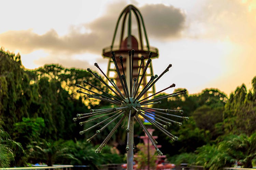
[[[73,0],[1,2],[0,47],[20,53],[28,69],[60,64],[104,72],[115,24],[132,4],[141,12],[154,74],[172,67],[156,91],[172,83],[196,94],[218,88],[229,95],[256,76],[256,0]],[[172,91],[167,91],[172,92]]]

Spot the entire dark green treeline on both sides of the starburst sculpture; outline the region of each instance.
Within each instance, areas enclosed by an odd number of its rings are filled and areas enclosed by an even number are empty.
[[[19,54],[0,50],[0,167],[41,162],[90,165],[96,169],[100,164],[126,162],[123,160],[126,132],[121,128],[117,129],[110,146],[100,154],[94,150],[114,124],[91,143],[85,141],[95,134],[94,130],[79,135],[79,131],[94,122],[80,126],[72,121],[77,113],[110,107],[108,103],[76,92],[75,85],[83,84],[84,80],[108,92],[85,70],[59,65],[28,70],[22,65]],[[218,169],[237,161],[243,167],[251,167],[256,156],[256,77],[252,85],[252,91],[247,91],[245,85],[238,87],[229,99],[218,89],[205,89],[196,95],[181,95],[154,105],[183,109],[183,115],[189,117],[182,126],[169,127],[169,131],[179,137],[175,142],[157,130],[154,132],[162,145],[160,150],[175,164],[191,163]],[[138,123],[134,124],[134,129],[137,145],[142,142],[139,136],[144,132]],[[115,147],[111,147],[114,145],[121,154],[115,154]]]

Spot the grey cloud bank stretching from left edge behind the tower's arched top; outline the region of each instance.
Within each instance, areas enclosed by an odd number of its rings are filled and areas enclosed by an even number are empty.
[[[45,50],[51,54],[99,54],[102,48],[111,45],[120,9],[125,5],[124,1],[109,4],[105,15],[90,23],[71,26],[69,33],[64,36],[58,35],[54,29],[42,35],[34,33],[32,29],[7,31],[0,34],[0,44],[6,49],[19,50],[22,54],[35,50]],[[148,37],[168,39],[180,35],[184,29],[185,15],[178,8],[152,4],[139,10],[144,17]],[[82,33],[81,29],[90,31]]]

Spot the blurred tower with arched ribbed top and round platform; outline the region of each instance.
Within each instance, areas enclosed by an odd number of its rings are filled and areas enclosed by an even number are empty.
[[[134,37],[134,34],[132,35],[132,28],[133,28],[132,13],[134,14],[134,16],[137,20],[138,38]],[[114,46],[120,21],[122,21],[122,25],[120,26],[121,27],[120,42],[119,42],[119,45]],[[126,24],[127,24],[127,35],[125,34]],[[143,38],[144,38],[144,40],[143,40]],[[130,58],[129,58],[130,56],[129,56],[128,51],[131,51],[131,50],[135,51],[133,60],[130,60]],[[151,59],[158,57],[158,49],[154,48],[154,47],[150,47],[150,45],[148,43],[147,33],[146,33],[145,26],[144,26],[144,21],[143,21],[142,15],[141,15],[140,11],[133,5],[128,5],[127,7],[125,7],[123,12],[120,14],[120,16],[117,20],[117,23],[116,23],[116,28],[115,28],[112,44],[110,47],[104,48],[103,52],[102,52],[103,57],[109,58],[107,76],[111,79],[114,79],[116,81],[117,86],[120,88],[120,87],[122,87],[121,81],[117,76],[117,72],[114,67],[113,60],[111,59],[112,51],[115,53],[115,58],[116,58],[116,61],[118,64],[118,69],[120,72],[122,72],[122,66],[120,64],[121,61],[123,61],[123,64],[124,64],[123,67],[124,67],[126,75],[129,75],[129,71],[130,71],[129,67],[127,66],[129,64],[129,61],[133,62],[133,68],[132,68],[133,70],[132,71],[134,74],[131,79],[138,78],[138,69],[139,69],[140,65],[141,65],[141,69],[139,70],[139,74],[140,74],[139,77],[141,77],[141,73],[145,69],[145,65],[148,60],[148,54],[150,52],[152,54]],[[144,59],[142,59],[143,57],[141,58],[141,56],[143,56]],[[145,77],[143,78],[143,81],[139,88],[139,92],[141,91],[141,89],[143,89],[143,87],[145,87],[145,85],[148,83],[148,81],[150,80],[150,78],[152,76],[153,76],[153,68],[152,68],[152,63],[150,63],[147,67]],[[129,87],[130,84],[129,84],[128,79],[129,79],[129,77],[127,76],[126,80],[127,80],[127,85]],[[155,86],[152,86],[152,88],[144,94],[144,98],[151,94],[154,94],[154,93],[155,93]]]

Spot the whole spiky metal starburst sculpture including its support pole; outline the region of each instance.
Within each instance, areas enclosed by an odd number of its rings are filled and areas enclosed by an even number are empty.
[[[146,98],[142,98],[144,94],[165,74],[167,71],[169,71],[169,68],[172,66],[171,64],[159,75],[152,76],[151,79],[148,81],[148,83],[145,85],[145,87],[139,92],[140,85],[145,77],[145,73],[147,70],[148,65],[151,63],[151,55],[152,53],[150,52],[148,55],[148,60],[145,65],[145,68],[143,69],[143,73],[140,76],[140,71],[142,69],[142,63],[140,64],[139,67],[139,72],[138,72],[138,77],[137,79],[133,79],[133,56],[134,56],[134,50],[129,51],[129,77],[126,78],[125,75],[125,70],[124,70],[124,63],[123,63],[123,57],[120,56],[120,64],[122,66],[122,71],[123,74],[121,75],[121,72],[119,71],[115,53],[112,52],[112,60],[115,64],[116,67],[116,72],[117,75],[120,79],[120,83],[122,85],[122,89],[119,89],[116,83],[114,82],[113,79],[109,79],[105,73],[100,69],[97,63],[95,63],[95,66],[100,70],[100,72],[104,75],[106,80],[104,81],[97,73],[94,73],[91,71],[89,68],[87,69],[91,74],[93,74],[96,78],[98,78],[109,90],[113,92],[114,95],[106,93],[105,91],[101,90],[99,87],[94,86],[93,84],[90,84],[87,81],[84,81],[85,84],[97,89],[98,91],[101,92],[97,93],[92,90],[89,90],[85,87],[82,87],[81,85],[76,85],[77,87],[86,90],[87,92],[83,92],[81,90],[77,90],[79,93],[83,93],[85,95],[88,95],[89,98],[95,98],[99,99],[102,101],[106,101],[115,105],[119,105],[119,107],[114,107],[114,108],[104,108],[104,109],[90,109],[90,113],[84,113],[84,114],[77,114],[77,117],[74,118],[74,121],[80,121],[80,125],[83,125],[89,121],[97,120],[100,119],[104,116],[110,116],[106,118],[105,120],[98,122],[97,124],[91,126],[90,128],[83,130],[80,132],[80,134],[84,134],[85,132],[98,127],[98,125],[105,124],[101,129],[97,130],[95,135],[87,139],[87,141],[90,141],[93,139],[96,135],[100,134],[109,124],[113,123],[116,119],[119,119],[119,121],[116,123],[114,126],[113,130],[109,133],[109,135],[105,138],[105,140],[101,143],[101,145],[95,150],[96,153],[100,153],[102,148],[108,143],[110,140],[111,136],[114,134],[115,130],[118,128],[118,126],[124,121],[126,118],[128,118],[128,123],[127,123],[127,169],[132,169],[132,160],[133,160],[133,121],[134,118],[138,121],[140,126],[143,128],[145,133],[147,134],[148,138],[151,140],[153,146],[155,147],[157,153],[159,155],[162,155],[162,152],[157,148],[157,141],[152,137],[152,135],[148,132],[147,128],[139,118],[139,115],[150,122],[152,125],[154,125],[158,130],[160,130],[162,133],[166,134],[171,140],[177,140],[178,137],[172,135],[170,132],[167,131],[168,126],[170,126],[172,123],[175,123],[177,125],[182,125],[181,122],[176,122],[174,120],[168,119],[165,116],[172,116],[176,118],[181,118],[181,119],[188,119],[188,117],[182,117],[178,115],[174,115],[171,113],[179,113],[182,114],[182,110],[171,110],[171,109],[161,109],[161,108],[152,108],[152,107],[146,107],[147,105],[152,105],[152,104],[161,104],[161,100],[163,99],[168,99],[171,97],[175,97],[181,94],[186,94],[186,89],[174,92],[169,95],[163,95],[160,97],[152,98],[153,96],[159,94],[160,92],[167,90],[171,87],[175,87],[175,84],[170,85],[169,87],[162,89],[155,94],[148,96]],[[141,61],[144,60],[144,57],[141,57]],[[126,65],[128,66],[128,65]],[[139,80],[140,79],[140,80]],[[129,87],[128,83],[129,81]],[[109,85],[109,83],[112,85],[112,87]],[[123,91],[123,93],[122,93]],[[90,94],[88,93],[90,92]],[[89,119],[86,121],[82,121],[83,119],[96,116],[96,115],[102,115],[93,119]],[[161,116],[162,115],[162,116]],[[154,118],[152,118],[154,116]],[[106,123],[107,122],[107,123]],[[122,126],[123,129],[124,125]]]

